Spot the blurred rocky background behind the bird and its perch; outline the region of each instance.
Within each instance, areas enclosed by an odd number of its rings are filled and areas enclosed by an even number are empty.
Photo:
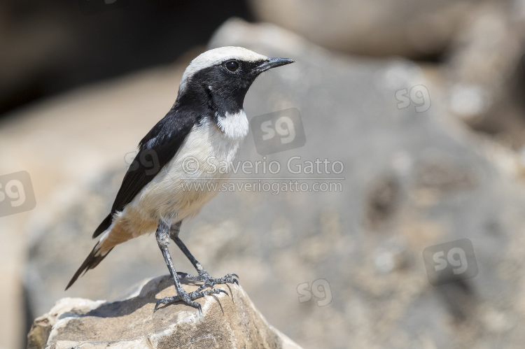
[[[218,195],[181,233],[202,264],[238,273],[304,348],[519,348],[525,1],[205,5],[0,3],[0,175],[27,171],[36,194],[34,210],[0,218],[0,347],[25,346],[61,297],[112,299],[166,273],[155,239],[138,238],[63,291],[190,59],[241,45],[297,61],[246,97],[248,117],[301,113],[306,144],[266,161],[340,161],[344,180]],[[262,161],[253,134],[239,160]],[[478,275],[430,285],[423,250],[459,238]],[[301,301],[313,284],[321,299]]]

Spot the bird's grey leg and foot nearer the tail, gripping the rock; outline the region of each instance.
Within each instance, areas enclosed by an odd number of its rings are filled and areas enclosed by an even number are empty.
[[[157,310],[158,306],[160,304],[170,304],[174,301],[183,301],[184,303],[188,304],[188,306],[195,306],[195,308],[198,308],[199,311],[202,311],[202,308],[200,304],[193,301],[197,298],[204,297],[207,294],[218,294],[218,293],[226,293],[224,290],[218,290],[218,289],[212,289],[212,290],[206,290],[202,291],[201,289],[196,290],[194,292],[186,292],[181,285],[181,281],[179,280],[179,276],[177,276],[177,273],[175,271],[175,268],[173,266],[172,256],[169,255],[169,227],[164,222],[159,222],[159,225],[157,227],[157,232],[155,233],[155,237],[157,238],[157,243],[159,245],[160,250],[162,251],[162,256],[164,257],[164,260],[166,262],[166,265],[168,266],[169,273],[172,275],[174,284],[175,284],[175,290],[177,292],[176,297],[166,297],[163,299],[160,299],[160,301],[155,304],[155,310]]]

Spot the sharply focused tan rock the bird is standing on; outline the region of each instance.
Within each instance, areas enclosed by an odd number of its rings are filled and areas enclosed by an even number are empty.
[[[188,292],[197,285],[185,282]],[[28,349],[36,348],[288,348],[300,349],[269,325],[237,285],[217,285],[228,292],[186,304],[156,301],[174,294],[169,276],[145,280],[117,301],[59,299],[34,320]]]

